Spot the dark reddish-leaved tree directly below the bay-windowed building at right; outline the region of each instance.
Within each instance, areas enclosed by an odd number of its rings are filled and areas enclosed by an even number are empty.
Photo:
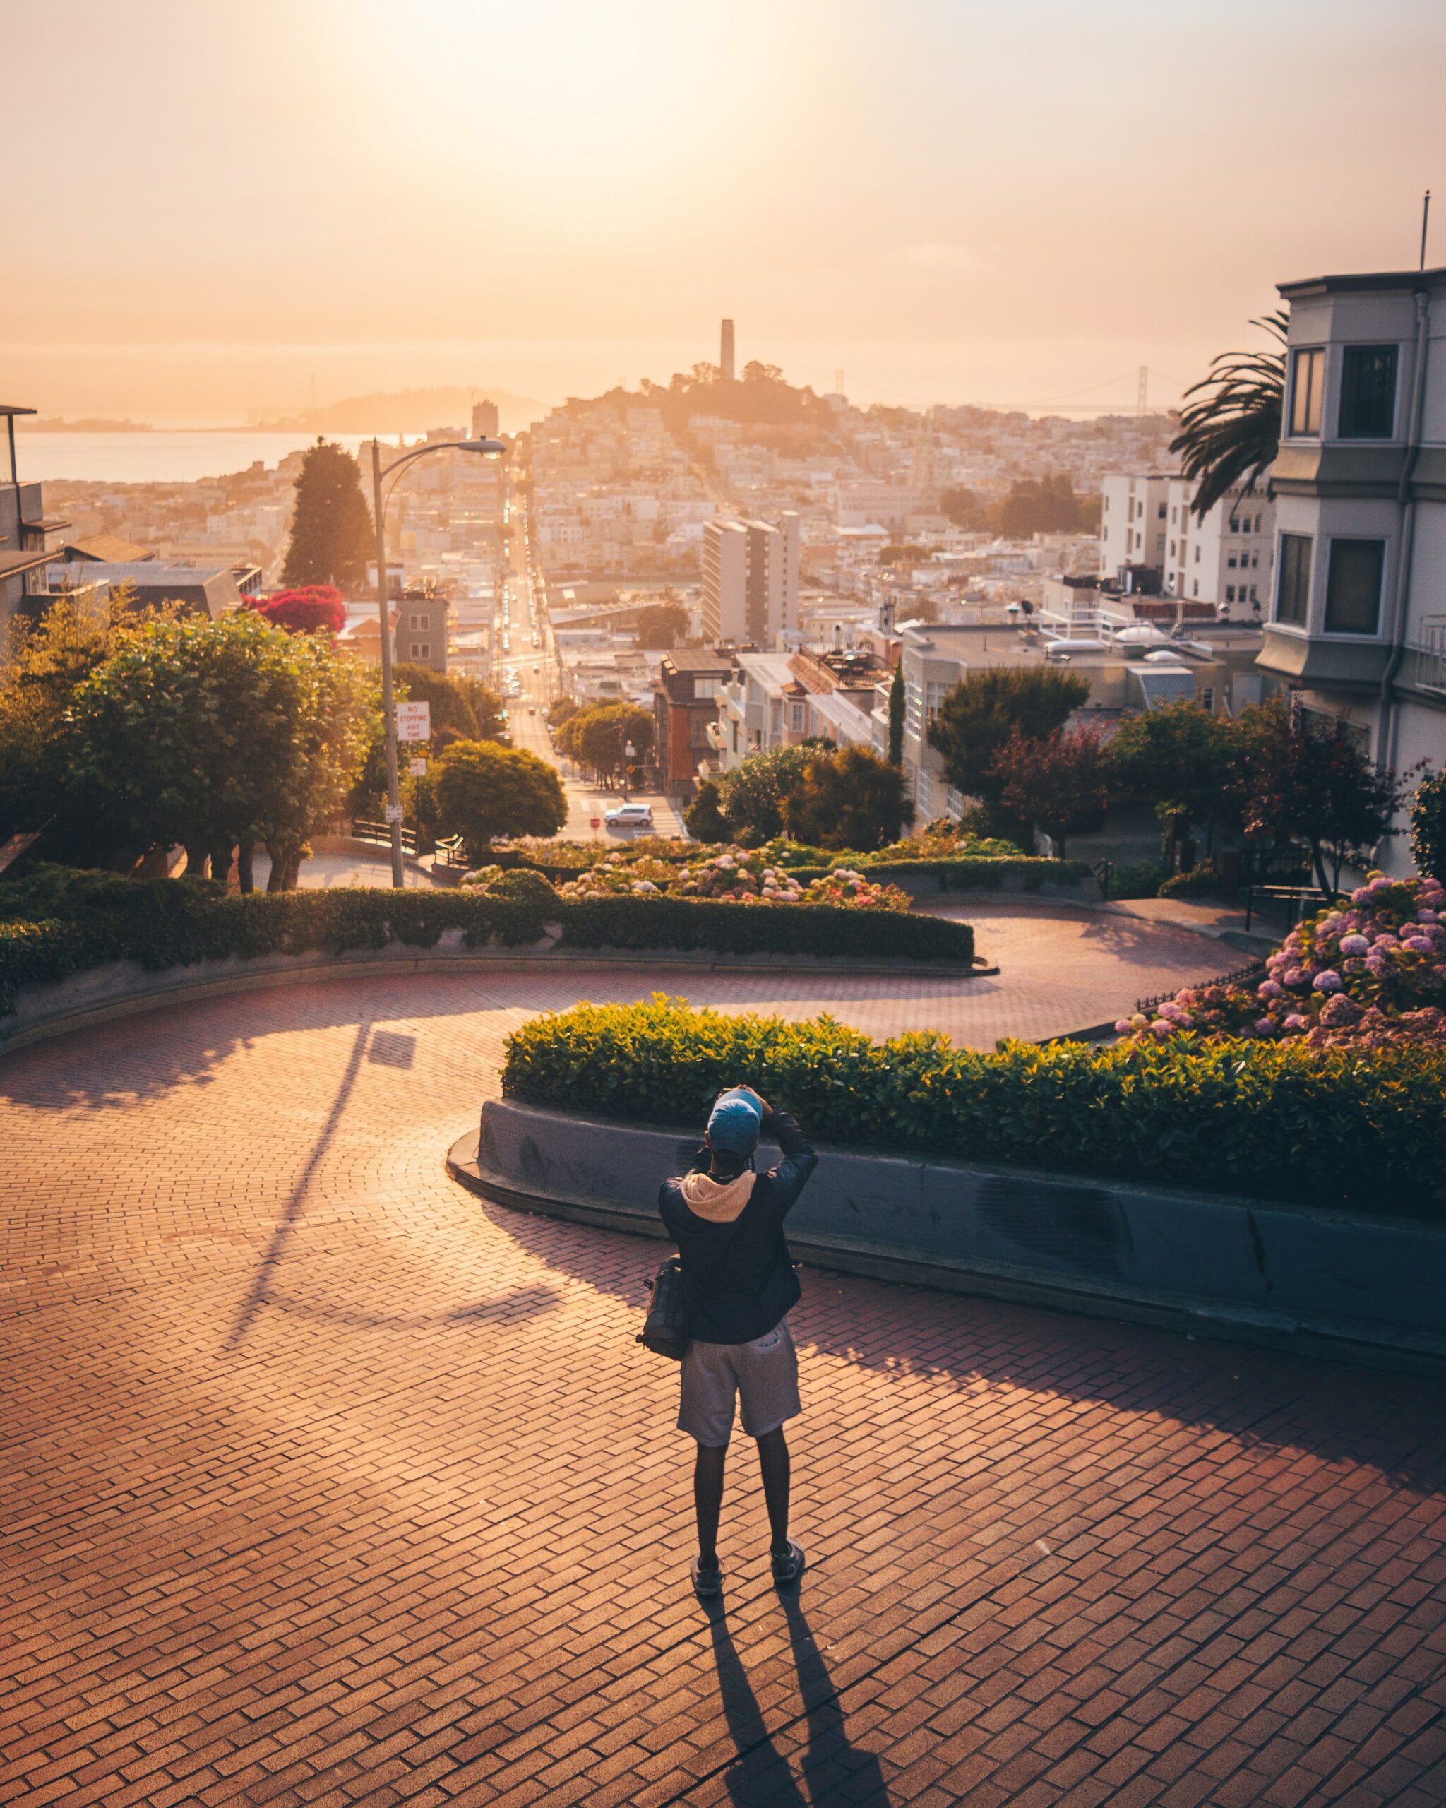
[[[1327,725],[1276,696],[1242,711],[1238,723],[1245,833],[1305,843],[1316,884],[1334,897],[1341,868],[1374,861],[1406,786],[1368,758],[1339,716]]]

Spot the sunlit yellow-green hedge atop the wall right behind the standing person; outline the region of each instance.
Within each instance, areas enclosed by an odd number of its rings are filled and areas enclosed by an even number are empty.
[[[528,1105],[696,1128],[748,1083],[822,1143],[1018,1163],[1446,1220],[1446,1056],[1301,1045],[871,1041],[645,1005],[577,1005],[508,1040],[502,1090]]]

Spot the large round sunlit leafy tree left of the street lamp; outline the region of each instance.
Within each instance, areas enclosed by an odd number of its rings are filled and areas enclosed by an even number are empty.
[[[322,636],[239,611],[155,620],[78,685],[72,770],[139,848],[186,848],[224,877],[271,852],[271,890],[295,884],[307,835],[342,806],[376,714],[369,673]]]

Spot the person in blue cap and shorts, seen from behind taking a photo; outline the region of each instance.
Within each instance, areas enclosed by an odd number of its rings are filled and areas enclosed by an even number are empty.
[[[757,1173],[754,1152],[765,1132],[783,1150],[783,1161]],[[743,1430],[757,1443],[774,1582],[786,1587],[803,1575],[803,1546],[788,1537],[783,1434],[803,1410],[799,1358],[788,1331],[801,1287],[783,1220],[817,1164],[788,1112],[774,1110],[752,1087],[734,1087],[718,1096],[690,1172],[663,1181],[658,1193],[658,1211],[678,1244],[692,1334],[681,1365],[678,1430],[698,1445],[698,1555],[690,1573],[701,1598],[723,1587],[718,1515],[736,1403]]]

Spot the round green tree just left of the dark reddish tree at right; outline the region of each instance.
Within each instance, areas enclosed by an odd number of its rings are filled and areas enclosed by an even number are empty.
[[[1106,781],[1115,792],[1153,806],[1164,835],[1164,864],[1191,824],[1231,828],[1240,821],[1233,781],[1238,730],[1193,698],[1124,716],[1104,749]]]

